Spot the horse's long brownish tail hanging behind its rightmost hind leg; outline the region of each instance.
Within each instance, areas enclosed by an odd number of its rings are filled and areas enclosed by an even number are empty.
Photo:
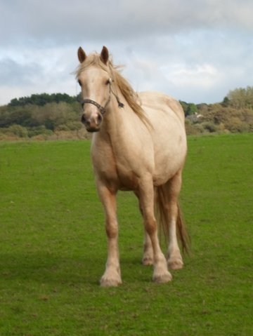
[[[155,192],[155,210],[157,213],[157,222],[160,228],[163,231],[166,241],[169,241],[169,213],[168,213],[168,204],[169,197],[165,192],[164,188],[157,187]],[[190,238],[188,236],[188,232],[186,230],[186,225],[183,220],[183,214],[181,212],[181,208],[179,206],[179,202],[177,202],[177,218],[176,218],[176,235],[181,241],[181,246],[183,251],[186,253],[189,252],[190,247]]]

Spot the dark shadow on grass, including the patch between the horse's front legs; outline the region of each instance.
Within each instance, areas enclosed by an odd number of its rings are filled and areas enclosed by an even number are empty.
[[[124,256],[121,260],[122,280],[150,282],[153,267],[143,266],[141,258]],[[98,285],[105,270],[105,258],[60,256],[53,253],[4,253],[0,256],[1,281],[36,281],[62,285]]]

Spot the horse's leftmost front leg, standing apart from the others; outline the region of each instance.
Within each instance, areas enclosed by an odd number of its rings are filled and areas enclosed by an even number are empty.
[[[108,238],[108,260],[105,273],[100,279],[100,285],[103,287],[117,286],[122,283],[122,279],[119,267],[116,194],[103,184],[97,183],[97,187],[105,209],[105,231]]]

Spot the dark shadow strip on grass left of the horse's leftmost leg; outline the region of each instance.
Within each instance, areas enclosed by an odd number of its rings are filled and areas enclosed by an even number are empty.
[[[102,258],[94,257],[60,257],[45,252],[6,253],[0,257],[2,281],[98,285],[103,268]]]

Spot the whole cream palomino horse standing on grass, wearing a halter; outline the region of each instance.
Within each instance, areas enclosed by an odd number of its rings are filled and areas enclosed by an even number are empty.
[[[108,49],[86,55],[78,49],[77,80],[82,88],[82,122],[94,132],[91,159],[105,210],[108,260],[102,286],[122,283],[119,267],[116,194],[132,190],[144,221],[143,264],[153,264],[153,281],[171,281],[170,269],[183,261],[177,241],[187,247],[178,197],[186,159],[186,131],[179,102],[162,93],[138,95],[112,64]],[[167,236],[167,260],[157,235],[155,208]]]

